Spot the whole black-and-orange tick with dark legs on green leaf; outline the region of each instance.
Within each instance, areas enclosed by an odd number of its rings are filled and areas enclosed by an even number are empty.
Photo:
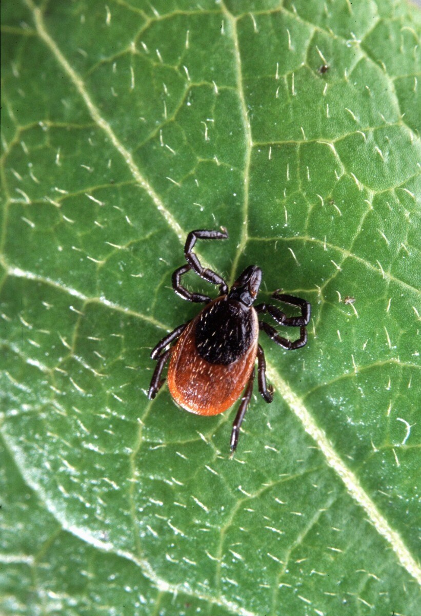
[[[183,323],[164,336],[151,352],[158,361],[148,398],[153,399],[164,383],[162,370],[167,360],[168,387],[180,407],[196,415],[218,415],[239,399],[244,389],[231,432],[231,451],[238,444],[239,429],[250,402],[257,358],[259,392],[266,402],[272,402],[273,387],[266,383],[265,354],[259,344],[259,330],[284,349],[299,349],[307,343],[306,325],[310,320],[310,304],[305,299],[276,291],[272,298],[301,310],[300,317],[287,317],[271,304],[253,306],[262,270],[249,265],[237,278],[231,289],[219,274],[202,267],[194,254],[196,240],[226,240],[227,229],[222,231],[196,230],[188,234],[184,247],[187,264],[178,267],[172,275],[175,293],[190,302],[206,304],[191,321]],[[201,293],[191,293],[180,283],[183,274],[193,270],[206,282],[219,286],[220,296],[211,299]],[[300,328],[300,338],[291,342],[278,334],[269,323],[259,321],[258,314],[269,314],[278,325]],[[177,340],[178,338],[178,340]],[[177,340],[174,346],[167,346]],[[167,349],[167,350],[166,350]]]

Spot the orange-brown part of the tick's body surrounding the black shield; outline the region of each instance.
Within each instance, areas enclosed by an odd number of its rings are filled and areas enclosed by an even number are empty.
[[[225,300],[226,296],[223,296],[215,299],[212,304]],[[208,304],[208,307],[212,304]],[[251,344],[238,359],[228,365],[208,362],[199,354],[195,332],[202,313],[188,324],[178,338],[172,348],[167,381],[175,402],[186,411],[196,415],[218,415],[240,397],[254,368],[258,346],[257,313],[254,308],[248,310],[252,311]]]

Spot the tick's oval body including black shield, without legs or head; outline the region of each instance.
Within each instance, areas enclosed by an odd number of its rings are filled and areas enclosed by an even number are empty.
[[[259,322],[227,295],[214,299],[185,328],[171,354],[170,394],[197,415],[218,415],[238,400],[257,355]]]

